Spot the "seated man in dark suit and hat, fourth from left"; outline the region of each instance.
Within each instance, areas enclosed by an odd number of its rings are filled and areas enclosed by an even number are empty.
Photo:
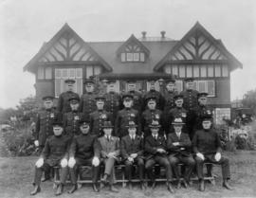
[[[128,133],[121,138],[120,152],[125,164],[125,173],[129,180],[128,187],[132,189],[133,165],[137,164],[140,180],[140,188],[144,186],[144,159],[143,159],[143,139],[137,135],[137,125],[134,121],[128,124]]]

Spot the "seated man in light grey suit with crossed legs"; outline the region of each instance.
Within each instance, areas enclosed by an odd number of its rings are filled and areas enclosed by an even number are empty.
[[[114,165],[117,160],[119,160],[119,137],[113,136],[113,125],[111,121],[105,121],[103,124],[104,135],[99,138],[100,148],[101,148],[101,158],[105,164],[104,176],[102,178],[102,183],[107,184],[109,180],[110,190],[113,192],[119,192],[113,186],[114,183]]]

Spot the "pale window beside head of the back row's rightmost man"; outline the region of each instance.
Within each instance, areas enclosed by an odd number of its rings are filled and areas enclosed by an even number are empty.
[[[209,97],[215,97],[215,81],[194,81],[194,89],[207,92]]]

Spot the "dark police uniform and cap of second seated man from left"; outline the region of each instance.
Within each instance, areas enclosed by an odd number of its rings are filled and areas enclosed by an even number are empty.
[[[89,127],[89,122],[85,119],[80,121],[81,126]],[[92,159],[93,157],[101,158],[100,145],[98,142],[97,135],[80,134],[76,135],[71,143],[69,149],[69,158],[74,157],[76,164],[73,168],[69,168],[70,179],[73,185],[77,184],[77,171],[81,166],[92,166],[92,182],[93,185],[98,183],[101,166],[93,166]],[[77,188],[77,187],[75,187]],[[95,186],[94,186],[95,189]],[[76,190],[76,189],[75,189]],[[74,190],[73,190],[74,191]],[[73,192],[71,191],[71,192]],[[96,191],[98,191],[96,189]]]

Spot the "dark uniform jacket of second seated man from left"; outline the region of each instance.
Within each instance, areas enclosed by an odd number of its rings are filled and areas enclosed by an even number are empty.
[[[97,135],[76,135],[69,149],[69,157],[90,159],[93,156],[100,158],[100,145]]]

